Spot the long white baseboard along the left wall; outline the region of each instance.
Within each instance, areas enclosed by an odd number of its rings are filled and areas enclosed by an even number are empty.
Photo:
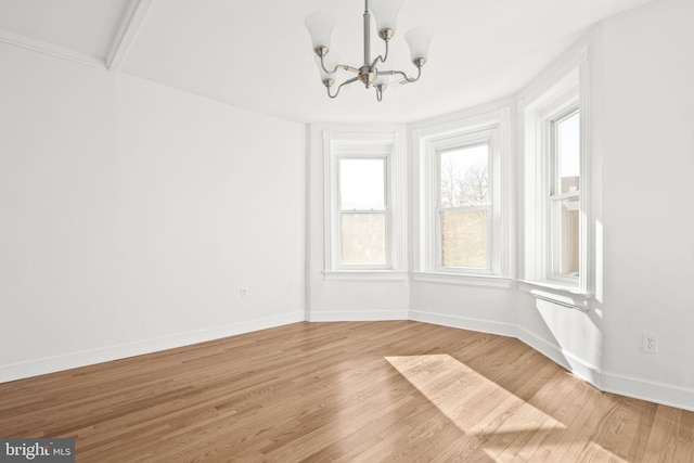
[[[83,350],[62,356],[46,357],[26,362],[0,365],[0,383],[54,373],[63,370],[190,346],[207,340],[220,339],[253,331],[266,330],[290,323],[305,321],[304,311],[295,311],[277,317],[248,320],[224,326],[179,333],[171,336],[138,340],[92,350]]]

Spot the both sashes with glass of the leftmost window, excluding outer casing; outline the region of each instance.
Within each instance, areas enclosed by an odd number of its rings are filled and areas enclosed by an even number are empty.
[[[388,265],[386,158],[338,158],[340,267]]]

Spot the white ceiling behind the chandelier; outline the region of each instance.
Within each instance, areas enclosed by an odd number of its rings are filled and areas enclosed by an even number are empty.
[[[600,20],[650,1],[406,0],[388,64],[414,72],[403,33],[435,36],[422,79],[382,103],[358,83],[329,99],[304,27],[330,12],[332,49],[359,67],[363,0],[0,0],[0,42],[300,123],[404,123],[509,97]]]

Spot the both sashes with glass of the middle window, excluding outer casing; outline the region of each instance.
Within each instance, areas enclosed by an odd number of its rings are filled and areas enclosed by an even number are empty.
[[[489,270],[489,143],[462,145],[437,153],[438,266]]]

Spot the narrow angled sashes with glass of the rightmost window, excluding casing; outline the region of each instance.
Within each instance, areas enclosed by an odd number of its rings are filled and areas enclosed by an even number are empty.
[[[549,255],[550,278],[580,275],[580,112],[573,108],[550,121]]]

